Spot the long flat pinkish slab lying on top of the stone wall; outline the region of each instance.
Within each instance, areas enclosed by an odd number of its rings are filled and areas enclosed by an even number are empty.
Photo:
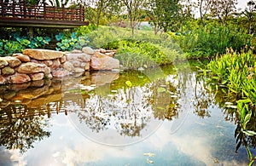
[[[55,60],[64,55],[63,52],[49,49],[24,49],[22,53],[36,60]]]

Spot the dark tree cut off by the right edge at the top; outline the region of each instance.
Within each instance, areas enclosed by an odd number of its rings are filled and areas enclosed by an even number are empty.
[[[249,23],[249,34],[253,34],[254,28],[256,26],[256,1],[249,1],[242,14],[247,17]]]

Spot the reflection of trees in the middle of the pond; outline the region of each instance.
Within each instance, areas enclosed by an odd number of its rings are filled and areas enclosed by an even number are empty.
[[[158,92],[161,86],[164,92]],[[78,113],[79,120],[95,132],[114,128],[119,135],[140,136],[153,118],[172,120],[177,117],[177,99],[171,97],[175,90],[163,79],[122,88],[108,96],[90,94],[83,111]]]

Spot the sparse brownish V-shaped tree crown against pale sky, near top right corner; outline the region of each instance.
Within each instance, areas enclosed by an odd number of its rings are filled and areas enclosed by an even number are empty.
[[[222,25],[226,25],[228,18],[236,12],[237,0],[209,0],[211,1],[211,14],[218,18]]]

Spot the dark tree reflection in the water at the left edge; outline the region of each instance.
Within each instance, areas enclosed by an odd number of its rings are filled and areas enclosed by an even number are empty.
[[[36,110],[19,105],[9,105],[4,110],[0,109],[1,146],[26,152],[35,141],[49,137],[50,133],[44,130],[48,126],[44,117],[27,116]]]

